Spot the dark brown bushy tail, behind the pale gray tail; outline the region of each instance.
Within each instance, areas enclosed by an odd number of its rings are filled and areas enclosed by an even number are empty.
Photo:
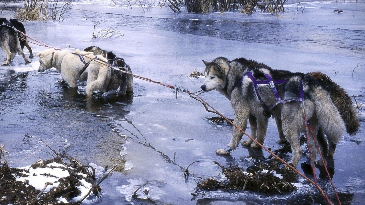
[[[349,94],[324,73],[312,72],[308,75],[317,80],[330,94],[333,104],[345,122],[346,132],[349,135],[355,135],[360,128],[360,120]]]

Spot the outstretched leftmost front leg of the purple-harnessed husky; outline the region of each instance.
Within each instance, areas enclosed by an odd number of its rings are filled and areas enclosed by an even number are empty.
[[[234,123],[243,131],[245,131],[247,127],[248,110],[246,108],[240,108],[240,109],[234,108],[234,110],[236,113],[236,118],[234,120]],[[243,133],[239,131],[236,127],[234,127],[230,143],[227,145],[226,148],[218,149],[217,151],[215,151],[215,153],[219,155],[229,155],[232,150],[235,150],[237,148],[238,143],[242,139],[242,135]]]

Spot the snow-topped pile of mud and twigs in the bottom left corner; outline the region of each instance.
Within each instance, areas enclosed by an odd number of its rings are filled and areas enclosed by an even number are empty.
[[[74,158],[55,157],[11,168],[0,166],[0,204],[81,204],[91,193],[101,191],[95,183],[95,169]]]

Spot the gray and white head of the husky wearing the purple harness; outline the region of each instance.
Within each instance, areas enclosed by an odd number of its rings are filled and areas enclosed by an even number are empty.
[[[200,88],[206,92],[211,90],[223,90],[226,86],[227,76],[226,73],[229,68],[229,61],[227,58],[216,58],[212,62],[203,60],[205,64],[205,81]]]

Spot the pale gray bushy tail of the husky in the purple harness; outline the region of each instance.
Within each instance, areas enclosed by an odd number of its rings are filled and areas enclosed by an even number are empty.
[[[310,97],[315,102],[319,127],[326,133],[331,142],[337,144],[345,131],[345,123],[332,103],[329,94],[320,85],[317,85],[314,86],[314,92],[310,92]]]

